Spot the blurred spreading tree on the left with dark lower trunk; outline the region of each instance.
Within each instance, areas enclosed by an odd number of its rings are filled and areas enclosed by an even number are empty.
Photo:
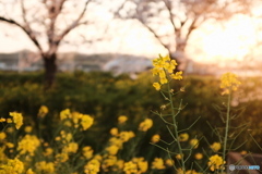
[[[1,1],[2,5],[13,4],[13,14],[20,12],[13,17],[1,13],[0,21],[20,27],[34,42],[45,64],[46,89],[52,85],[57,73],[57,51],[61,41],[78,26],[87,24],[84,15],[92,1],[78,1],[81,10],[75,1],[70,0]]]

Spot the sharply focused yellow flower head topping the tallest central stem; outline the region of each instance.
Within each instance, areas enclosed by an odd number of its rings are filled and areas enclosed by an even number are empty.
[[[169,55],[159,55],[159,58],[154,59],[153,66],[153,75],[159,77],[159,83],[156,82],[153,84],[156,90],[160,90],[162,85],[167,84],[170,79],[182,79],[181,71],[174,74],[177,62],[175,60],[170,60]]]

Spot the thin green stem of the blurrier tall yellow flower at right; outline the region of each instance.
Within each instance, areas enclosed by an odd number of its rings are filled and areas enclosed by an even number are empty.
[[[230,101],[231,101],[231,90],[229,91],[228,99],[227,99],[226,130],[225,130],[224,145],[223,145],[223,160],[225,161],[226,161],[226,147],[227,147],[227,137],[228,137],[229,121],[230,121]],[[225,164],[222,165],[221,173],[223,173],[224,167],[225,167]]]

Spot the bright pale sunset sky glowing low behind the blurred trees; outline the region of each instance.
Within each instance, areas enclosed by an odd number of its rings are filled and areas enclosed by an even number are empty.
[[[95,9],[92,17],[100,22],[98,27],[80,27],[71,33],[68,38],[78,38],[81,35],[104,36],[103,23],[110,22],[107,34],[109,38],[92,45],[75,44],[62,45],[61,52],[75,51],[82,53],[130,53],[154,58],[158,53],[166,54],[167,51],[154,37],[142,28],[135,21],[120,22],[111,21],[111,15],[104,9]],[[215,62],[228,60],[241,60],[254,48],[257,39],[261,34],[255,30],[254,18],[238,15],[227,23],[206,23],[200,29],[194,30],[187,54],[194,55],[196,62]],[[78,42],[78,41],[76,41]],[[14,52],[19,50],[36,50],[27,36],[17,27],[0,23],[0,52]],[[261,54],[260,49],[254,49]]]

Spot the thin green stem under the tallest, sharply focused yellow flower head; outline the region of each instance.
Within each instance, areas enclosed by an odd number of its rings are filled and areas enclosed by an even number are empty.
[[[176,121],[176,115],[180,112],[180,107],[181,105],[179,105],[178,113],[176,114],[175,111],[174,111],[172,96],[171,96],[171,92],[170,92],[169,82],[168,82],[167,87],[168,87],[168,97],[169,97],[170,107],[171,107],[171,115],[172,115],[172,123],[174,123],[174,129],[175,129],[175,137],[177,139],[178,150],[179,150],[179,153],[181,156],[182,171],[183,171],[183,174],[186,174],[183,153],[182,153],[182,148],[181,148],[181,145],[180,145],[180,141],[179,141],[178,126],[177,126],[177,121]]]

